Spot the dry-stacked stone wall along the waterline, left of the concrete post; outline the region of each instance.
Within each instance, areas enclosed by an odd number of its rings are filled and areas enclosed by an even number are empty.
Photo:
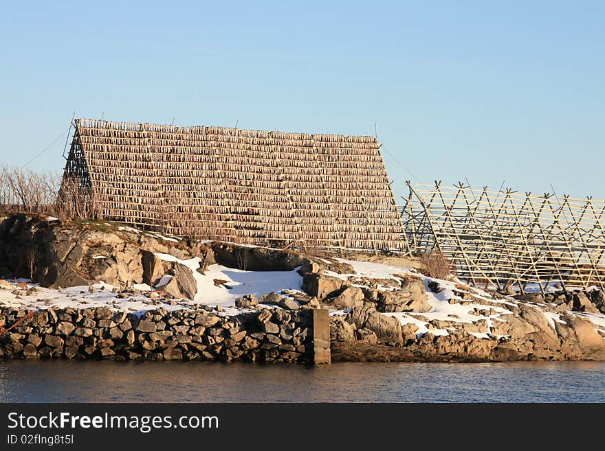
[[[190,309],[160,308],[142,314],[105,307],[48,308],[28,313],[25,309],[0,308],[1,357],[314,361],[311,310],[263,308],[227,316],[216,308],[192,305]]]

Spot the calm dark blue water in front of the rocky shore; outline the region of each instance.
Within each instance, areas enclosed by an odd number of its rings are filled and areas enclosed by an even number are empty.
[[[605,402],[605,362],[0,360],[0,402]]]

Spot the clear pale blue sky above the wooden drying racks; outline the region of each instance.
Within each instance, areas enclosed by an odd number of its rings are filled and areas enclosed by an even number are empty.
[[[404,181],[605,198],[605,2],[10,2],[0,162],[69,119],[378,137]],[[63,168],[65,137],[34,160]]]

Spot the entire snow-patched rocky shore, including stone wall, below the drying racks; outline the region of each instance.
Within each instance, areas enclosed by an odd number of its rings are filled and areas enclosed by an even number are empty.
[[[500,294],[427,277],[393,255],[360,260],[0,217],[0,356],[605,360],[596,288]],[[319,311],[330,316],[314,337]]]

